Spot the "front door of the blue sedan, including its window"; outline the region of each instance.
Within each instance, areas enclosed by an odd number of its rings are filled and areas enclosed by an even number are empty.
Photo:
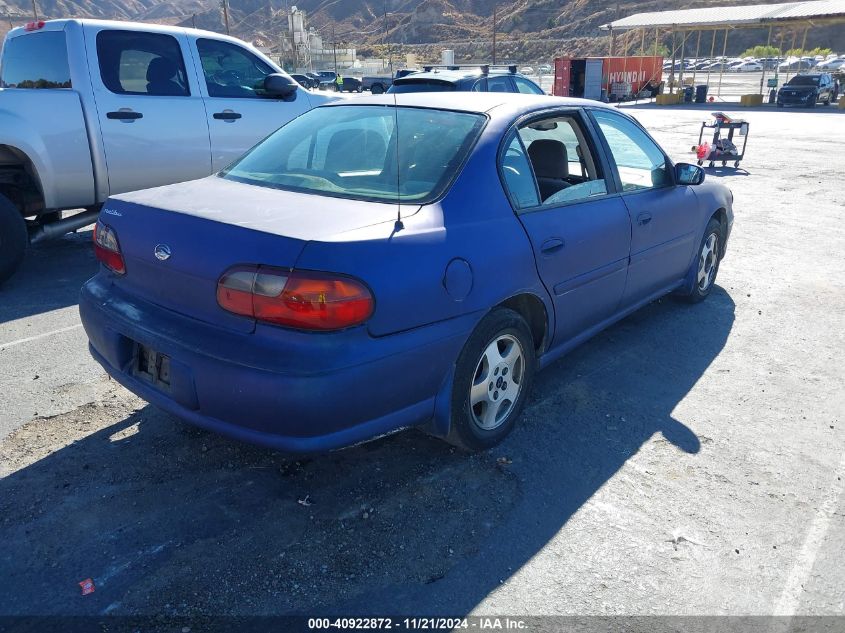
[[[623,303],[637,303],[677,284],[697,246],[698,199],[674,184],[663,150],[632,119],[592,110],[618,173],[631,217],[631,265]]]

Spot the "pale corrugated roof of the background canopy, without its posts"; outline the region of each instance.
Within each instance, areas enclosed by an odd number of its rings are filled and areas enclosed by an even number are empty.
[[[824,26],[845,22],[845,0],[812,0],[783,4],[753,4],[736,7],[709,7],[678,11],[637,13],[604,24],[604,31],[634,29],[713,30],[724,28],[764,28],[768,26]]]

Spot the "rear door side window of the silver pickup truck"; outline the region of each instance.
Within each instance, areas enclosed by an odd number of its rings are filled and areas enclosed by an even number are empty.
[[[103,85],[115,94],[187,97],[188,76],[175,37],[137,31],[100,31],[97,57]]]

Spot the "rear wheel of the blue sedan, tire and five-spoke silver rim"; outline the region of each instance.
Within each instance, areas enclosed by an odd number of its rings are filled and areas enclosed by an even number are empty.
[[[535,369],[534,339],[525,319],[495,308],[475,328],[455,365],[446,441],[467,451],[501,442],[522,414]]]

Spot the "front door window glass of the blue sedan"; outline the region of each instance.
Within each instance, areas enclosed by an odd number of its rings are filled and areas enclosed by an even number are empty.
[[[616,163],[623,191],[641,191],[672,184],[666,156],[633,121],[613,112],[593,111]]]

